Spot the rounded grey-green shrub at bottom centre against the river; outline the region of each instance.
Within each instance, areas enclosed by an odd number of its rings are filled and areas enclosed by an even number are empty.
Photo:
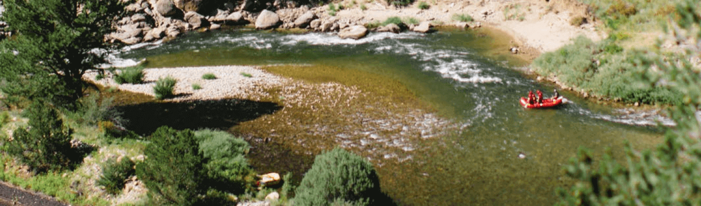
[[[295,191],[295,205],[371,205],[381,194],[372,164],[360,156],[334,149],[314,159]]]

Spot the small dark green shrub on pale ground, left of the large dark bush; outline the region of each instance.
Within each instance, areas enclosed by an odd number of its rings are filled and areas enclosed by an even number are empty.
[[[102,175],[97,179],[97,185],[104,186],[107,193],[118,194],[124,188],[124,181],[135,174],[134,161],[122,158],[117,162],[116,158],[110,158],[102,166]]]

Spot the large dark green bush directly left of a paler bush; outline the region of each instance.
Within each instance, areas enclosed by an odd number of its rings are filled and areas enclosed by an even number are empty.
[[[203,158],[190,130],[163,126],[149,137],[147,158],[137,164],[136,174],[149,188],[151,205],[193,205],[205,191]]]

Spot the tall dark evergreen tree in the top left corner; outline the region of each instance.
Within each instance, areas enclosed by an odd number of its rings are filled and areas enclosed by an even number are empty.
[[[123,13],[119,0],[5,0],[1,21],[18,33],[0,41],[0,87],[6,95],[59,106],[81,97],[83,74],[114,47],[104,35]]]

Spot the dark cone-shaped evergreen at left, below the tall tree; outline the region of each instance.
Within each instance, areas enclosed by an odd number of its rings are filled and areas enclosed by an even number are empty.
[[[73,130],[63,125],[57,111],[50,105],[35,101],[25,110],[29,130],[19,128],[13,140],[7,142],[7,152],[34,172],[62,170],[78,161],[71,148]]]

